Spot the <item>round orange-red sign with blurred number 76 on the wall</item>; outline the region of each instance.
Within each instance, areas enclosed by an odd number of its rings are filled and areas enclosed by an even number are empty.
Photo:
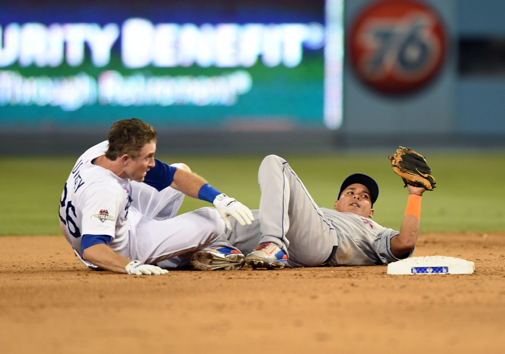
[[[410,93],[440,70],[446,52],[435,12],[412,0],[383,0],[362,11],[347,38],[350,61],[362,81],[389,94]]]

